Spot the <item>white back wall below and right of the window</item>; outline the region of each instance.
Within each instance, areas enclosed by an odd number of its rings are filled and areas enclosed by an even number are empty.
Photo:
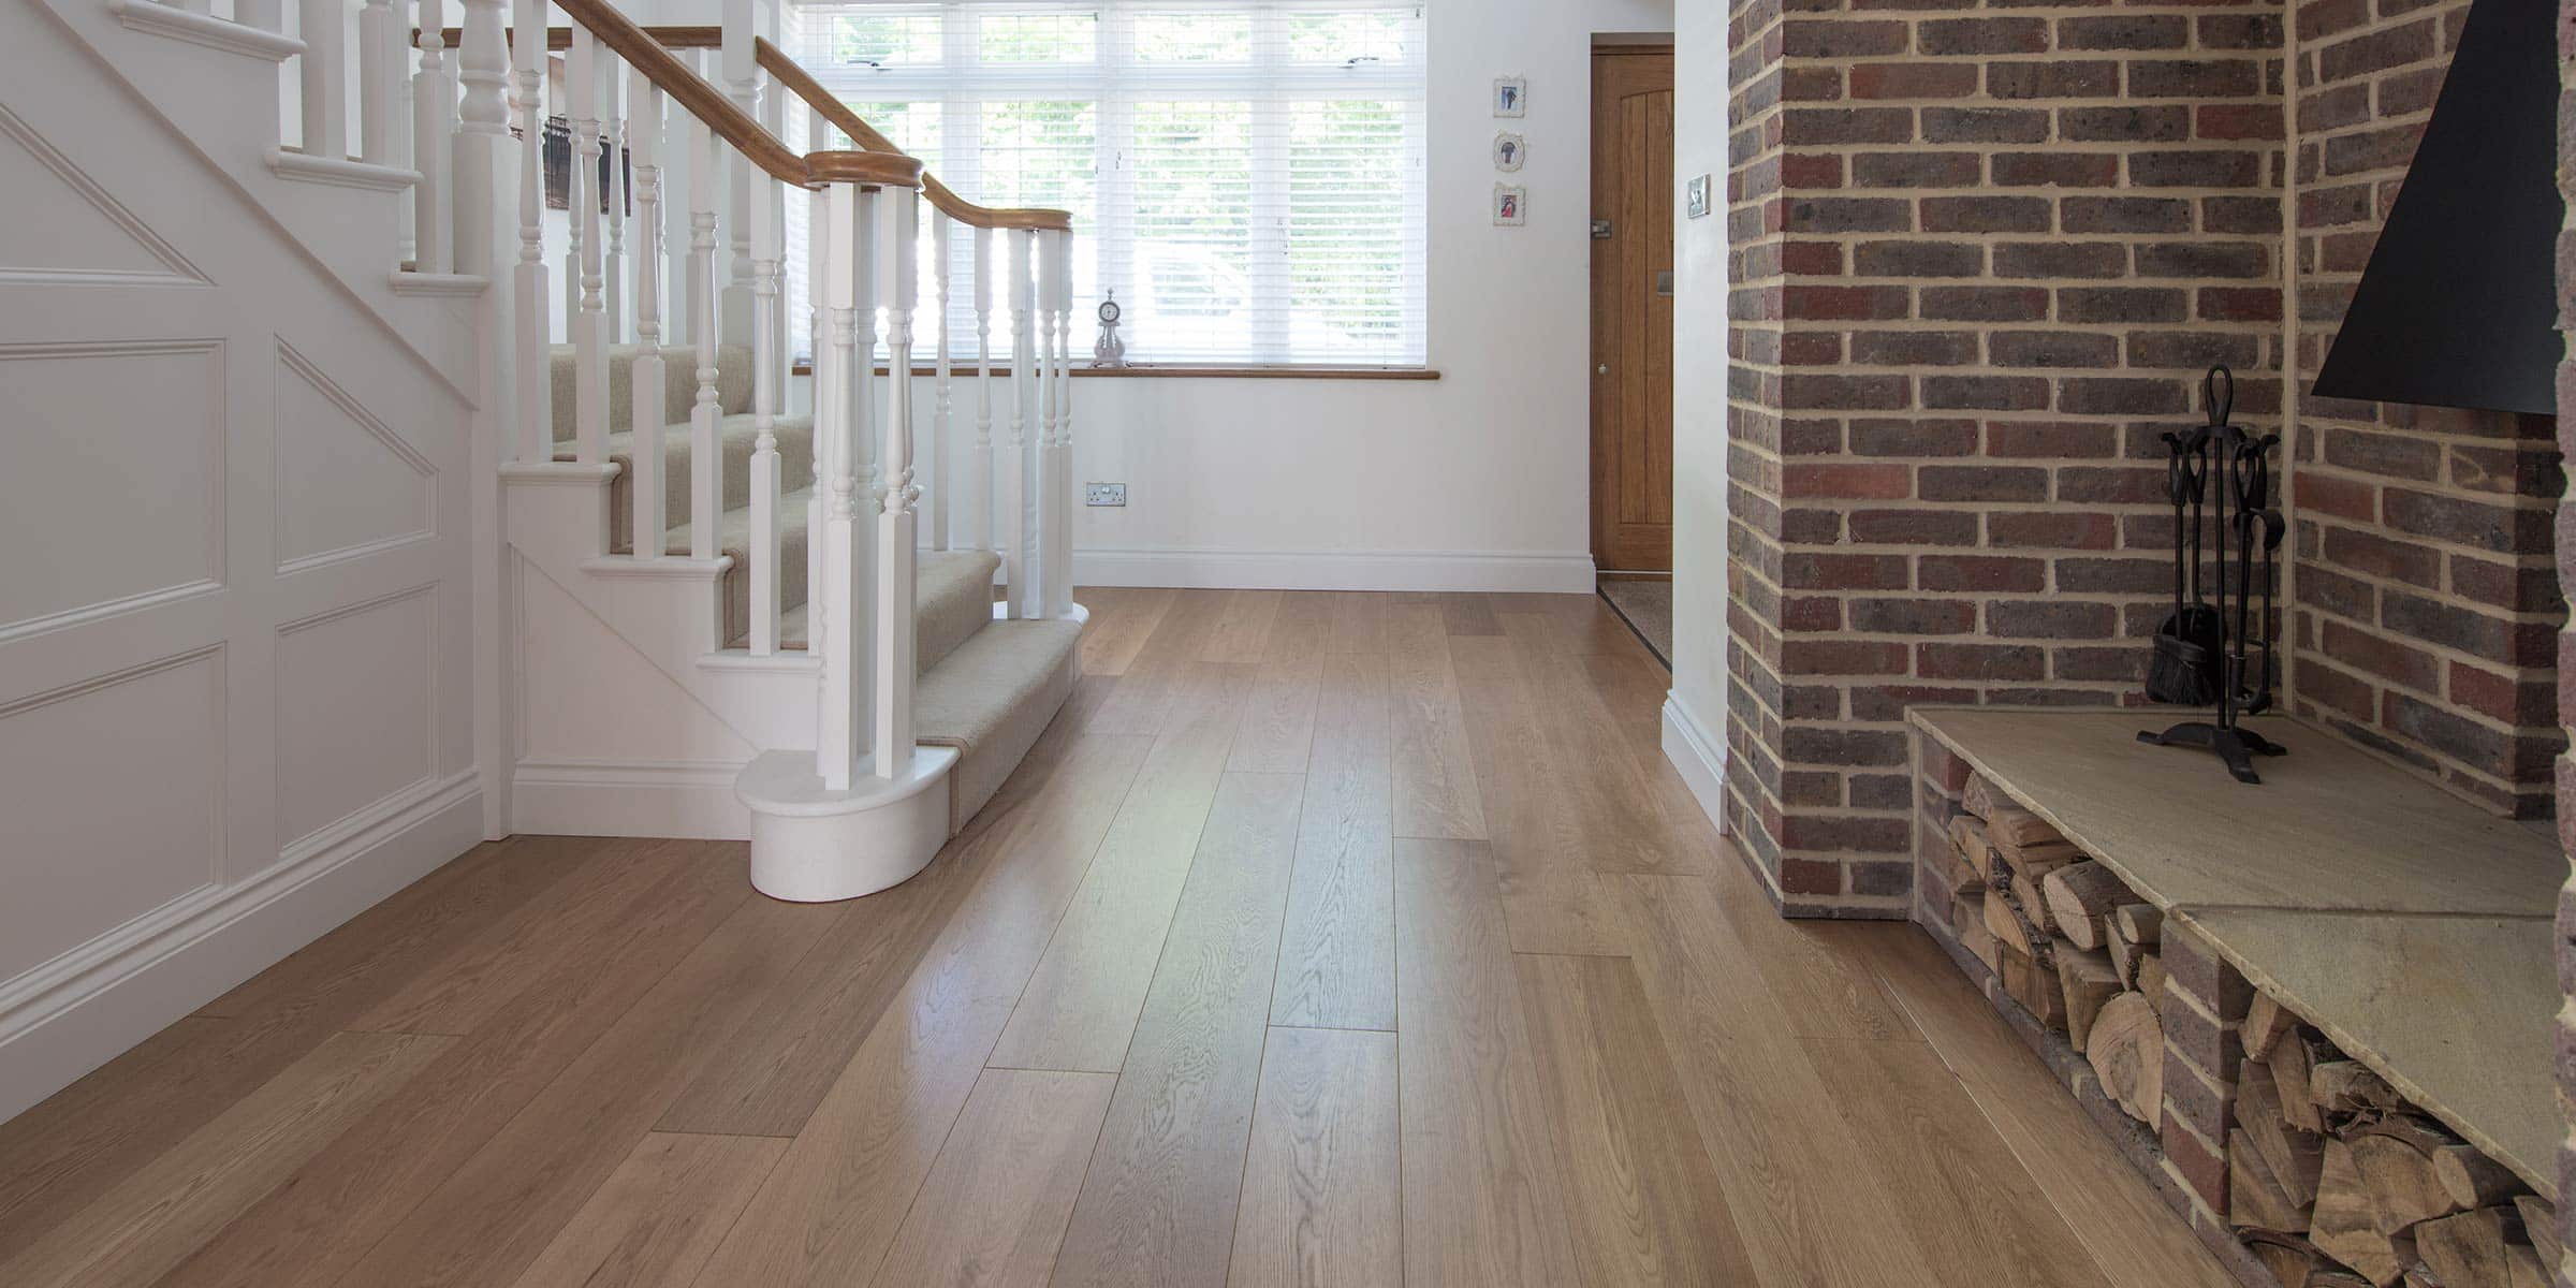
[[[1430,361],[1440,381],[1074,381],[1077,577],[1592,590],[1592,33],[1672,0],[1430,3]],[[1486,216],[1497,75],[1530,77],[1528,227]],[[1087,322],[1087,309],[1077,309]],[[1074,350],[1092,330],[1077,327]]]

